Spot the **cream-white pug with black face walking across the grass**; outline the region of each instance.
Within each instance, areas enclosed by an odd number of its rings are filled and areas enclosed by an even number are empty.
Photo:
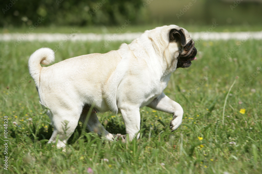
[[[53,50],[35,51],[28,67],[40,103],[48,109],[54,126],[48,142],[56,142],[59,135],[57,147],[65,147],[78,121],[85,122],[91,106],[86,126],[108,140],[121,136],[125,141],[125,135],[108,133],[96,112],[122,113],[130,141],[139,137],[139,108],[143,106],[171,113],[170,128],[176,130],[182,123],[183,109],[163,90],[171,73],[179,67],[189,67],[196,52],[188,31],[176,25],[145,31],[116,51],[73,57],[49,67],[41,67],[40,63],[53,62]]]

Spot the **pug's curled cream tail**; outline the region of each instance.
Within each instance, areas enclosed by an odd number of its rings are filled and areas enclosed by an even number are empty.
[[[54,61],[54,51],[50,48],[40,48],[29,58],[28,69],[31,77],[35,81],[36,88],[39,87],[41,64],[48,65]]]

